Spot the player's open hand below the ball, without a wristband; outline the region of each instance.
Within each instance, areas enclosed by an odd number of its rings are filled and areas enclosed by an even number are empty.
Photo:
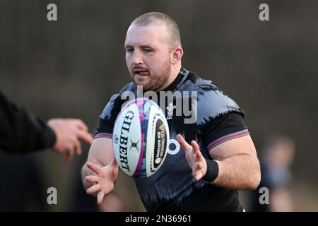
[[[93,194],[98,191],[98,204],[100,204],[104,196],[114,189],[114,182],[118,174],[118,163],[113,159],[105,167],[99,167],[93,162],[87,162],[87,166],[96,175],[85,177],[86,182],[94,183],[86,192],[87,194]]]

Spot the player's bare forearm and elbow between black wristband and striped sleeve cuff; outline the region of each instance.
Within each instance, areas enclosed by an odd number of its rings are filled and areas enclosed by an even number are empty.
[[[212,182],[227,189],[256,189],[261,179],[259,160],[252,138],[242,136],[209,150],[218,162],[218,177]]]

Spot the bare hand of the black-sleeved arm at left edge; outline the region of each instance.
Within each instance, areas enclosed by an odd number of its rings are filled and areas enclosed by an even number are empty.
[[[81,155],[81,141],[93,142],[93,136],[88,133],[86,124],[80,119],[50,119],[47,125],[54,131],[57,141],[53,146],[56,153],[66,155],[69,162],[73,155]]]

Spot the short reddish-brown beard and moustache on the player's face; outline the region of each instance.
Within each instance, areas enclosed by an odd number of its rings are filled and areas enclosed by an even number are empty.
[[[148,71],[148,76],[145,76],[144,78],[141,76],[136,76],[134,71],[138,69]],[[171,59],[167,59],[165,64],[163,64],[163,67],[157,73],[153,73],[152,71],[139,66],[134,66],[134,68],[129,71],[129,73],[131,75],[132,81],[136,86],[142,85],[143,92],[147,92],[149,90],[158,92],[165,85],[167,85],[166,83],[169,81],[171,74]]]

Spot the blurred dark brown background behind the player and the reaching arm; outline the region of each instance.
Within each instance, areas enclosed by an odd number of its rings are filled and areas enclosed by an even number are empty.
[[[57,21],[47,20],[50,3],[57,5]],[[269,4],[269,21],[259,20],[261,3]],[[0,90],[42,119],[78,117],[95,133],[110,96],[130,82],[124,39],[131,20],[167,13],[179,25],[182,65],[245,110],[262,167],[277,169],[267,170],[276,182],[263,182],[278,189],[278,206],[270,210],[317,211],[317,8],[314,0],[1,0]],[[143,211],[133,179],[124,174],[102,206],[86,196],[84,149],[71,164],[49,151],[1,153],[1,210]],[[49,206],[51,186],[58,204]],[[252,196],[240,192],[247,210],[255,210],[251,200],[261,194]]]

